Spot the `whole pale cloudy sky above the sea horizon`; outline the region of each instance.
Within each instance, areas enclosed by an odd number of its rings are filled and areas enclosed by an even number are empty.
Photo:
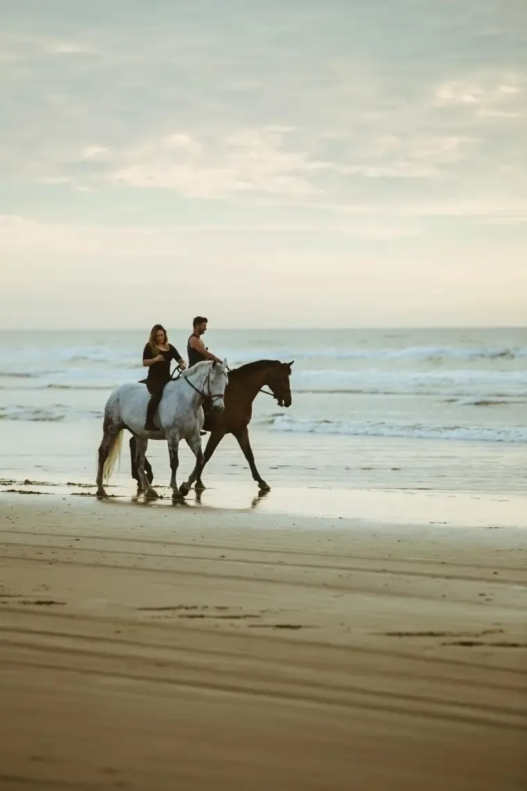
[[[525,0],[2,0],[0,327],[527,324]]]

